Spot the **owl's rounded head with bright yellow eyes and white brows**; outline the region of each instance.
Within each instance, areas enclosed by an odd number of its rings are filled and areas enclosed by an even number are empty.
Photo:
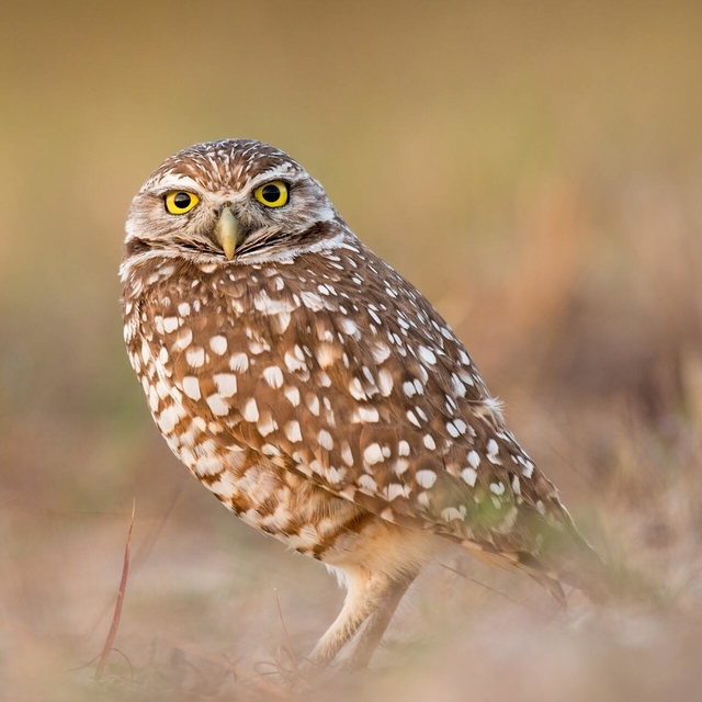
[[[144,183],[125,257],[158,250],[271,260],[333,237],[339,224],[321,185],[283,151],[248,139],[210,141],[171,156]]]

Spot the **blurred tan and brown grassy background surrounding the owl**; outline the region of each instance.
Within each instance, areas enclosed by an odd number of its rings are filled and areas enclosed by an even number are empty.
[[[700,3],[1,9],[1,699],[248,698],[261,661],[290,667],[278,600],[297,656],[340,605],[186,475],[123,349],[131,197],[235,136],[325,183],[466,341],[585,531],[668,600],[554,619],[525,579],[456,557],[478,582],[432,569],[382,671],[318,699],[699,694]],[[67,670],[101,649],[134,498],[132,670],[114,654],[90,686]]]

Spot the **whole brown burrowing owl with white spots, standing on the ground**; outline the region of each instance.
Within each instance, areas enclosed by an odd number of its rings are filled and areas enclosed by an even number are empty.
[[[286,154],[234,139],[167,159],[132,204],[121,275],[129,360],[173,453],[348,588],[312,660],[362,627],[365,663],[451,542],[556,596],[595,588],[463,343]]]

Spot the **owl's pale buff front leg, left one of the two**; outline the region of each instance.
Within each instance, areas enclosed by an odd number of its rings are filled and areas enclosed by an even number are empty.
[[[404,586],[403,593],[407,589],[407,585]],[[308,659],[316,668],[325,668],[355,634],[361,624],[378,609],[383,609],[386,602],[392,601],[392,596],[397,588],[397,581],[392,580],[386,575],[356,571],[349,574],[347,586],[349,591],[339,616],[337,616],[333,624],[326,631],[308,656]],[[393,607],[393,610],[395,607]],[[392,616],[392,611],[387,615],[388,622],[389,616]],[[375,625],[375,627],[377,626],[380,624]],[[387,626],[387,623],[385,626]],[[385,626],[383,626],[383,631]]]

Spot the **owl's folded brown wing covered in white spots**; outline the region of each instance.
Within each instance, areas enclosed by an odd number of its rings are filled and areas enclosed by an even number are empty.
[[[351,276],[307,254],[257,272],[258,288],[223,278],[197,308],[171,293],[182,324],[161,309],[154,332],[181,401],[222,450],[260,452],[389,521],[533,552],[542,526],[570,524],[554,486],[429,302],[366,249],[350,256]]]

